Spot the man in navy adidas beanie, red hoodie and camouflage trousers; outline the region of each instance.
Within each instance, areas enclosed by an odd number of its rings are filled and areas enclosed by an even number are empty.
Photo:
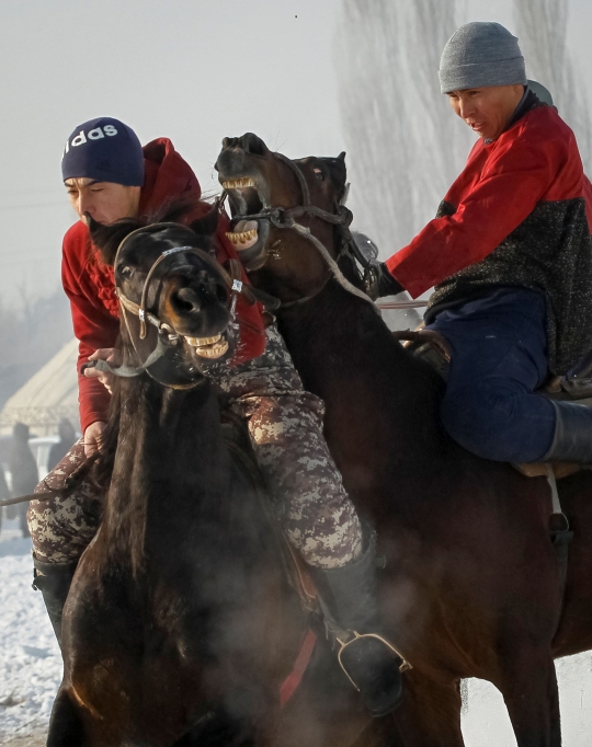
[[[84,457],[101,449],[110,375],[95,369],[82,373],[81,366],[89,359],[111,360],[119,332],[113,267],[91,244],[88,216],[103,225],[137,216],[152,220],[179,197],[184,208],[180,221],[191,222],[212,210],[201,200],[191,166],[170,140],[160,138],[141,148],[135,133],[117,119],[102,117],[79,125],[66,142],[61,170],[79,217],[64,239],[62,283],[80,342],[83,443],[76,444],[45,479],[54,489],[64,485]],[[228,228],[220,216],[214,237],[220,264],[239,261],[226,235]],[[242,281],[249,281],[244,272]],[[402,679],[401,660],[375,635],[379,620],[374,542],[369,538],[364,542],[360,519],[329,453],[322,434],[323,404],[304,390],[277,327],[264,326],[261,312],[258,303],[237,300],[238,344],[231,365],[220,366],[216,381],[230,398],[235,416],[244,422],[286,538],[326,585],[337,624],[356,631],[349,644],[351,677],[363,702],[375,715],[384,715],[400,702]],[[307,464],[304,475],[303,463]],[[39,487],[45,490],[43,484]],[[99,527],[101,498],[96,486],[82,481],[68,495],[57,492],[50,501],[30,505],[34,586],[43,593],[58,641],[78,559]]]

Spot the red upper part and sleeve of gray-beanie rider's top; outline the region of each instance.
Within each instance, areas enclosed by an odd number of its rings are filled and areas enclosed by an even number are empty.
[[[493,142],[478,140],[444,197],[454,214],[431,220],[387,267],[417,298],[485,260],[539,203],[582,197],[592,226],[592,187],[573,133],[554,107],[535,108]]]

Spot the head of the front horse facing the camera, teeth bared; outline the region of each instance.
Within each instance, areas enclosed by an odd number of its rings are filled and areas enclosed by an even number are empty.
[[[113,265],[127,358],[166,386],[203,380],[208,360],[230,354],[231,279],[215,260],[218,210],[190,226],[89,220],[103,261]],[[114,369],[117,373],[117,369]]]

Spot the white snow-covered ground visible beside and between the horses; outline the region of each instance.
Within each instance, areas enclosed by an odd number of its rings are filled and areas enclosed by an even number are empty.
[[[0,745],[41,747],[61,678],[61,656],[41,593],[31,588],[29,540],[15,521],[0,533]],[[558,662],[565,747],[592,744],[592,653]],[[535,675],[536,676],[536,675]],[[469,680],[467,747],[515,747],[499,692]]]

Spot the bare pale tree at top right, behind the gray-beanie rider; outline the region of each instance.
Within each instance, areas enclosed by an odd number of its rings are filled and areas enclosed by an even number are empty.
[[[592,158],[590,108],[567,48],[569,0],[514,0],[516,34],[530,78],[551,92],[559,114],[576,133],[584,166]]]

